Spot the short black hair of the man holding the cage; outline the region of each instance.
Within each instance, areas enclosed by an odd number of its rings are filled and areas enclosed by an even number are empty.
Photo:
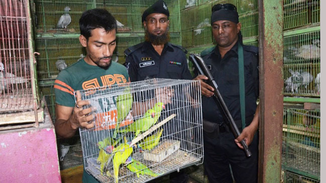
[[[105,9],[91,9],[85,11],[79,19],[80,34],[87,40],[91,37],[91,31],[103,28],[106,32],[117,29],[115,18]]]

